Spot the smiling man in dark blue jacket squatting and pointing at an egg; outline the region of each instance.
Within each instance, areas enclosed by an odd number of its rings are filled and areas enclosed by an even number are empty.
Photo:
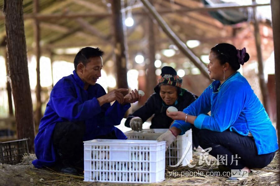
[[[55,166],[61,172],[77,174],[75,166],[82,162],[83,141],[127,139],[114,125],[120,124],[130,103],[141,96],[136,89],[123,96],[128,92],[126,88],[106,94],[96,83],[101,76],[103,54],[99,48],[82,48],[74,59],[73,74],[55,84],[34,140],[35,167]]]

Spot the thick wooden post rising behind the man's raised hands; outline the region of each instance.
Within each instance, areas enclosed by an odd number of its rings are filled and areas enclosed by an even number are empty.
[[[126,41],[126,27],[123,25],[123,15],[121,9],[123,7],[123,0],[111,0],[112,5],[112,24],[114,35],[114,56],[117,68],[117,87],[128,88],[127,83],[127,41]]]

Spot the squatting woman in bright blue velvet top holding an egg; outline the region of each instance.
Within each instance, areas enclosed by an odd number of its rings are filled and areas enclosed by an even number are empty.
[[[249,54],[245,48],[220,43],[211,49],[209,60],[209,76],[215,81],[183,112],[167,112],[175,122],[158,140],[168,146],[194,125],[199,145],[212,148],[209,154],[222,164],[209,171],[250,172],[267,166],[278,150],[276,130],[248,81],[237,72]]]

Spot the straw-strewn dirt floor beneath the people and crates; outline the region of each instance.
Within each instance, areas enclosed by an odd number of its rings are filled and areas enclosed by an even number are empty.
[[[201,152],[194,153],[194,161],[192,164],[197,164]],[[37,169],[32,165],[32,160],[36,157],[34,154],[25,156],[23,161],[17,165],[0,165],[0,186],[30,186],[30,185],[142,185],[142,184],[116,184],[116,183],[100,183],[100,182],[84,182],[83,175],[63,175],[53,170]],[[210,157],[212,162],[215,162],[214,157]],[[211,166],[201,164],[190,168],[184,167],[169,167],[166,166],[165,180],[155,184],[144,185],[280,185],[278,174],[279,169],[279,152],[276,153],[274,160],[262,170],[254,170],[253,176],[240,178],[236,181],[228,181],[227,177],[217,176],[185,176],[186,172],[202,171],[205,173],[210,167],[215,167],[217,164],[212,163]],[[172,174],[177,172],[178,175]]]

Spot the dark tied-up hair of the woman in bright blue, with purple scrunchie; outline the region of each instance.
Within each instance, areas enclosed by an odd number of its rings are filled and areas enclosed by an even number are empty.
[[[233,70],[240,69],[240,64],[243,65],[250,58],[245,48],[238,50],[229,43],[219,43],[211,48],[211,52],[217,55],[217,59],[220,60],[221,65],[228,62]]]

